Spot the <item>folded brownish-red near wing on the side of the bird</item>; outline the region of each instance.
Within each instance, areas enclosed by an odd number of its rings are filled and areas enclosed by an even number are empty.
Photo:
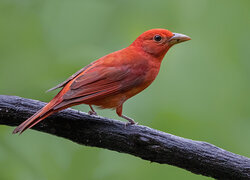
[[[141,75],[131,72],[129,67],[95,67],[73,80],[69,90],[62,96],[63,101],[54,109],[124,92],[140,85],[143,80],[143,72]]]

